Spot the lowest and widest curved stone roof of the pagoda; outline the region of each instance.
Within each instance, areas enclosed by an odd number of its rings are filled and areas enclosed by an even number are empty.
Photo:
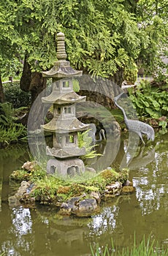
[[[83,124],[76,117],[72,118],[53,118],[49,123],[41,125],[47,132],[56,132],[59,134],[69,132],[80,132],[89,129],[89,124]]]

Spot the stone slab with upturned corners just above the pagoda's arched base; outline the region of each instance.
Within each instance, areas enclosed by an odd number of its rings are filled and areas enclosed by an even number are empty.
[[[50,148],[46,147],[46,154],[56,158],[79,157],[85,154],[85,148]]]

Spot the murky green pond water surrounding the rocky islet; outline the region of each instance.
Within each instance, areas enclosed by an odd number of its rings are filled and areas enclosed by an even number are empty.
[[[114,166],[121,161],[126,147],[121,138]],[[64,217],[47,206],[23,208],[13,206],[8,198],[13,193],[9,175],[28,159],[26,146],[11,146],[0,150],[0,255],[15,256],[75,256],[91,255],[90,244],[99,249],[111,245],[131,246],[136,233],[152,237],[168,246],[168,135],[156,135],[154,143],[137,148],[131,160],[130,177],[136,191],[120,195],[102,205],[99,214],[91,218]],[[122,157],[123,158],[123,157]]]

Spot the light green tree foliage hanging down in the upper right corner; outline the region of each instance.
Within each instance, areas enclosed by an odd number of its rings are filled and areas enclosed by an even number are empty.
[[[167,56],[167,0],[140,0],[137,4],[137,24],[146,34],[139,58],[150,74],[156,75],[164,67],[161,56]]]

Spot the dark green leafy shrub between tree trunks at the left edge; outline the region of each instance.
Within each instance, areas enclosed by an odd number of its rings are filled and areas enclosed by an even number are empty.
[[[19,83],[7,83],[4,86],[5,101],[12,103],[13,108],[27,107],[31,104],[31,94],[22,91]]]

